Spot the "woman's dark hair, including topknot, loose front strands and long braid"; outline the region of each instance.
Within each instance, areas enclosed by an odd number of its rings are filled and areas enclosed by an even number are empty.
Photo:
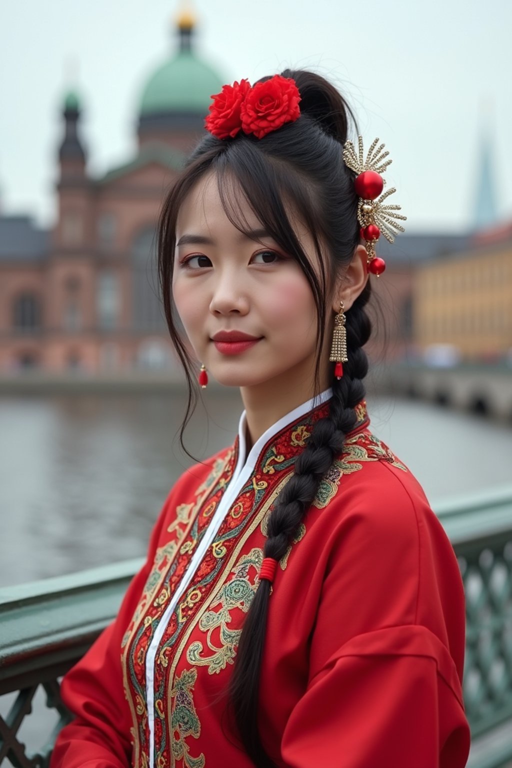
[[[276,243],[301,266],[318,311],[316,392],[319,389],[326,297],[329,297],[335,275],[340,267],[352,260],[359,242],[355,174],[342,159],[349,118],[352,118],[357,130],[354,115],[339,91],[319,74],[300,69],[286,69],[281,74],[296,81],[302,98],[299,102],[300,117],[266,134],[263,139],[242,131],[229,139],[207,134],[188,158],[160,214],[160,287],[170,335],[183,363],[189,388],[187,412],[180,429],[182,445],[183,431],[197,403],[197,383],[193,373],[194,363],[177,329],[171,285],[177,214],[193,185],[207,171],[213,170],[226,216],[243,232],[247,227],[244,230],[243,222],[237,220],[235,215],[234,193],[237,185]],[[261,78],[259,82],[268,79]],[[294,212],[312,235],[321,265],[319,276],[296,237],[286,204],[292,204]],[[327,263],[323,250],[328,254]],[[263,557],[279,561],[286,553],[315,498],[319,482],[342,451],[345,435],[355,426],[354,409],[365,396],[362,379],[368,371],[368,359],[362,346],[368,341],[372,330],[365,313],[370,293],[368,280],[362,293],[345,313],[348,362],[344,363],[342,379],[333,377],[329,416],[315,423],[305,449],[296,458],[292,478],[274,502],[267,522],[268,538]],[[258,768],[274,766],[263,748],[257,727],[259,674],[269,593],[269,581],[260,581],[243,624],[228,690],[243,746]]]

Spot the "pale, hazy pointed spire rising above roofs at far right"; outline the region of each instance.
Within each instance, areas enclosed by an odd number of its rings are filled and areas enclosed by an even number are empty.
[[[492,227],[499,219],[493,164],[492,106],[491,98],[485,99],[481,106],[477,189],[473,217],[473,227],[476,231]]]

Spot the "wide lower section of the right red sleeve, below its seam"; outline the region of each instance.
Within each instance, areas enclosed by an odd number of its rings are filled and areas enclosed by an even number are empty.
[[[359,635],[311,680],[289,717],[289,768],[464,768],[469,729],[454,667],[424,627]]]

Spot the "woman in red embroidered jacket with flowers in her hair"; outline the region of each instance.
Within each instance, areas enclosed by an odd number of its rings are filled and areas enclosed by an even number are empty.
[[[377,200],[390,161],[346,144],[352,113],[312,72],[213,98],[160,217],[160,281],[187,417],[177,316],[202,386],[239,386],[245,411],[64,677],[76,718],[51,766],[463,768],[461,575],[362,385],[376,224],[403,218]]]

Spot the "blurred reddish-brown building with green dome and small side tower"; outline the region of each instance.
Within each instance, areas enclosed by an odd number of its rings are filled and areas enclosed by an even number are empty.
[[[80,95],[62,107],[58,217],[0,217],[0,372],[173,369],[159,298],[155,225],[165,190],[204,133],[223,78],[194,49],[195,22],[177,20],[176,50],[147,79],[134,157],[101,177],[87,169]]]

